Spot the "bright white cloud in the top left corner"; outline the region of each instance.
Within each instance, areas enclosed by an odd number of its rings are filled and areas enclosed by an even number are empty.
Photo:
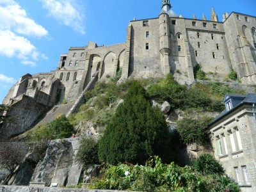
[[[48,31],[27,16],[26,10],[13,0],[0,0],[0,29],[28,36],[46,36]]]

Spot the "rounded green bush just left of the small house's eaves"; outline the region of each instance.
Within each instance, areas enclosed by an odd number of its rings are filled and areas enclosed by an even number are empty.
[[[207,125],[214,118],[203,116],[200,119],[184,117],[177,122],[177,131],[185,143],[204,144],[209,142],[209,131]]]

